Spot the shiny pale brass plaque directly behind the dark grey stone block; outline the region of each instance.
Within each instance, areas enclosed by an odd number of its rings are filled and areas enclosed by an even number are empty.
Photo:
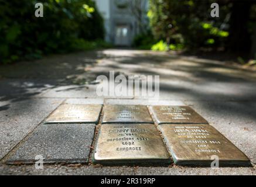
[[[101,105],[60,105],[46,123],[97,123]]]

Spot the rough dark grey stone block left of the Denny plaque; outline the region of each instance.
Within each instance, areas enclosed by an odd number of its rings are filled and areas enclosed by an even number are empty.
[[[44,163],[86,163],[89,159],[95,124],[42,124],[8,163],[35,163],[42,155]]]

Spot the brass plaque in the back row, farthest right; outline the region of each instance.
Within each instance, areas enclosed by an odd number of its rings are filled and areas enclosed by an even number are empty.
[[[150,106],[156,123],[208,123],[189,106]]]

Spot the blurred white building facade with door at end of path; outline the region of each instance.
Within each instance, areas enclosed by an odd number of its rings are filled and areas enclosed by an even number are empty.
[[[148,25],[148,0],[94,0],[104,19],[105,40],[115,46],[131,46]]]

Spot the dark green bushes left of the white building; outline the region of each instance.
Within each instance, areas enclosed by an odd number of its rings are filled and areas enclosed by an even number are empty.
[[[40,58],[50,53],[94,49],[103,43],[103,19],[91,0],[42,0],[43,18],[34,0],[0,2],[0,63]],[[94,42],[97,40],[97,42]]]

